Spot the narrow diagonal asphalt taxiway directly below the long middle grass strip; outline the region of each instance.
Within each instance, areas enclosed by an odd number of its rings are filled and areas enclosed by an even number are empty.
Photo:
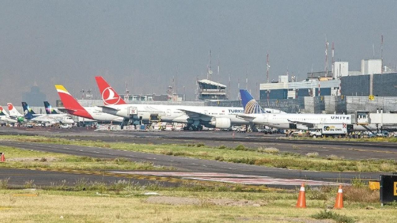
[[[379,173],[355,172],[318,172],[305,170],[292,170],[274,167],[263,167],[243,163],[229,163],[214,160],[202,160],[180,156],[167,156],[126,150],[114,150],[91,146],[42,144],[33,142],[15,142],[0,140],[4,146],[13,146],[26,150],[55,152],[76,156],[90,156],[97,158],[127,158],[131,161],[152,162],[154,165],[175,167],[181,171],[215,172],[241,175],[256,175],[278,177],[284,179],[310,179],[323,181],[349,181],[360,177],[362,179],[378,179]]]

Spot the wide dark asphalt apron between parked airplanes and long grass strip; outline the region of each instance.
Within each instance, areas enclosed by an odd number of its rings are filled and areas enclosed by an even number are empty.
[[[0,135],[40,135],[79,140],[101,140],[104,142],[132,142],[152,144],[196,144],[207,146],[231,146],[243,144],[247,147],[275,147],[280,152],[296,152],[305,155],[318,152],[319,156],[343,156],[345,159],[392,159],[397,160],[397,143],[390,142],[341,142],[324,140],[287,139],[284,135],[263,133],[232,133],[227,131],[161,131],[161,132],[108,132],[74,128],[10,128],[0,127]]]

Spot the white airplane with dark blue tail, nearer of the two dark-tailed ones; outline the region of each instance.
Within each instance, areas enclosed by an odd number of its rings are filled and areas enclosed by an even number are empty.
[[[22,102],[23,112],[25,113],[25,118],[28,121],[38,122],[38,123],[50,123],[54,124],[73,124],[74,121],[71,117],[67,115],[44,115],[44,114],[33,114],[34,112],[29,108],[26,102]]]

